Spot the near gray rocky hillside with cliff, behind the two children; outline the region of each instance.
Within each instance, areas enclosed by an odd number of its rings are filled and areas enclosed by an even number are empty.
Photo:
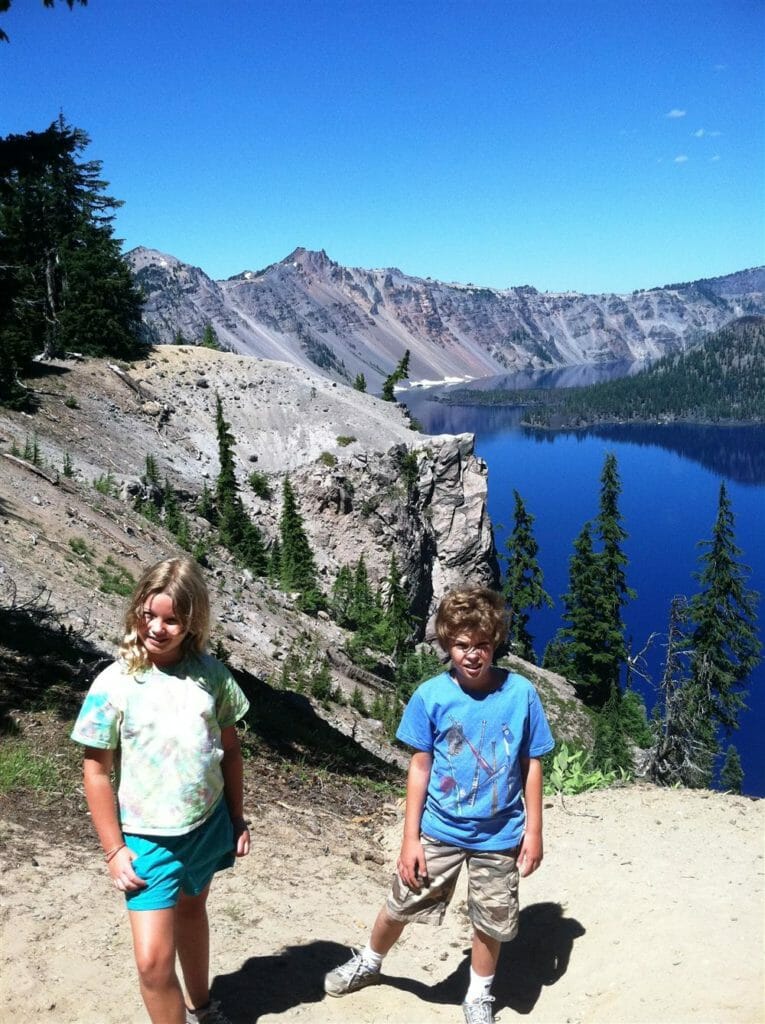
[[[34,382],[33,416],[0,410],[0,604],[49,601],[62,622],[113,653],[123,599],[104,592],[103,572],[137,578],[178,550],[133,508],[146,457],[194,517],[218,472],[216,394],[236,438],[248,511],[272,540],[289,472],[325,590],[362,554],[372,582],[382,581],[395,554],[422,633],[448,588],[497,582],[486,467],[472,435],[425,437],[400,407],[326,377],[196,347],[157,348],[122,370],[98,359],[47,370]],[[36,467],[14,456],[25,449],[37,451]],[[268,478],[269,500],[248,486],[253,469]],[[205,520],[195,525],[208,528]],[[352,689],[358,680],[342,658],[348,637],[334,623],[303,615],[220,549],[208,572],[217,635],[235,666],[273,682],[291,650],[314,647],[332,658],[335,683]],[[556,702],[567,701],[570,688],[553,681]],[[350,709],[334,714],[341,729],[364,736]],[[572,729],[586,726],[578,720]],[[375,749],[374,736],[367,741]]]

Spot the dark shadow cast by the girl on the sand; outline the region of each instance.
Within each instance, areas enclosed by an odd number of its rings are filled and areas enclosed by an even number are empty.
[[[220,999],[231,1024],[254,1024],[265,1014],[325,998],[324,976],[348,958],[348,947],[318,940],[285,946],[268,956],[252,956],[238,971],[218,975],[212,995]]]

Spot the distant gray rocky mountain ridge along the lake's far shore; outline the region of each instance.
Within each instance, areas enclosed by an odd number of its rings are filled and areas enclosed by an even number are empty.
[[[152,249],[128,254],[152,340],[200,340],[212,324],[232,351],[283,359],[378,390],[405,350],[413,381],[486,377],[685,348],[737,316],[765,313],[765,268],[631,295],[443,284],[395,268],[344,267],[296,249],[213,281]]]

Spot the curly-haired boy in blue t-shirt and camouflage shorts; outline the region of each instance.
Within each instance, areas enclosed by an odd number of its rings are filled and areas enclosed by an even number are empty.
[[[383,957],[410,921],[443,920],[463,863],[473,924],[467,1024],[493,1024],[500,947],[518,928],[518,874],[542,863],[542,764],[554,742],[522,676],[493,664],[507,617],[499,594],[448,594],[435,621],[452,660],[407,705],[396,738],[414,751],[403,841],[391,893],[367,946],[325,978],[329,995],[380,981]]]

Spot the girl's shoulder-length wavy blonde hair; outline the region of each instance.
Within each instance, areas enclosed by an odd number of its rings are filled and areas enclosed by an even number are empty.
[[[138,635],[146,601],[167,594],[185,631],[182,655],[201,654],[210,634],[210,598],[200,567],[193,558],[167,558],[152,565],[138,581],[125,611],[125,638],[120,657],[131,674],[148,668],[151,660]]]

